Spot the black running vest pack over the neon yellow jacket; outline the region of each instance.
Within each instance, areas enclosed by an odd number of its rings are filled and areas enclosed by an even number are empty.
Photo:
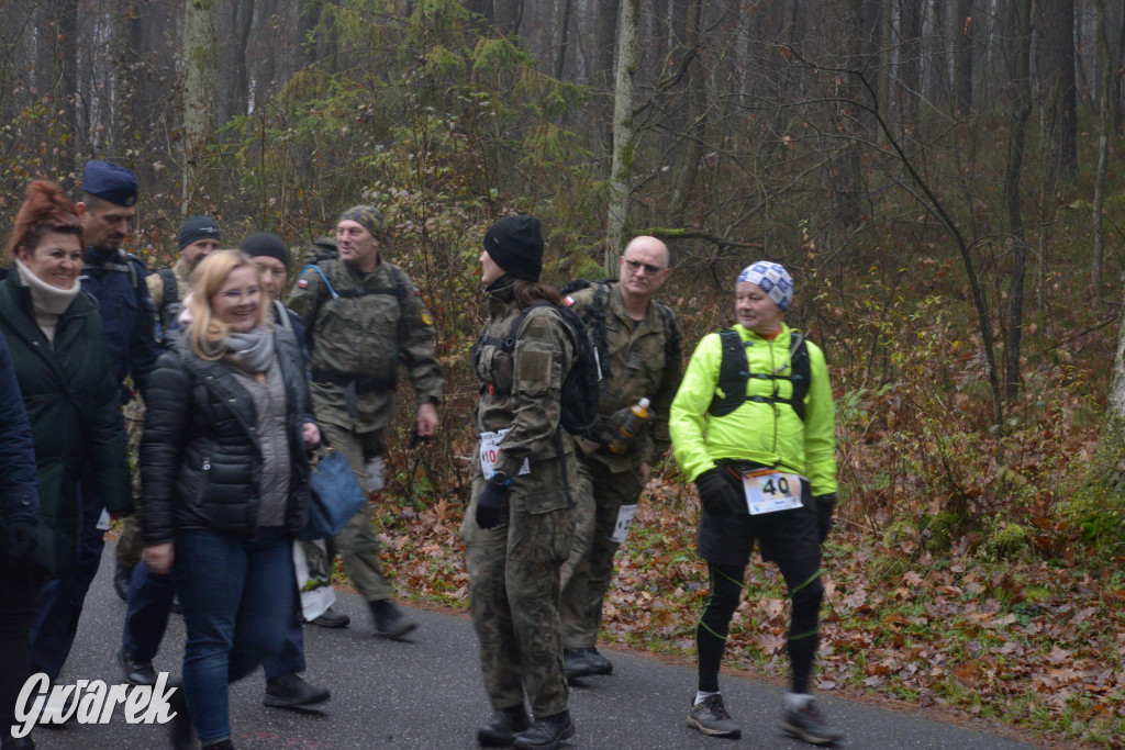
[[[719,332],[719,340],[722,345],[722,363],[719,365],[719,388],[726,394],[719,398],[716,394],[711,399],[708,413],[713,417],[727,416],[747,400],[763,404],[788,404],[796,416],[804,422],[804,397],[809,394],[809,381],[811,380],[812,365],[809,362],[809,345],[804,336],[795,331],[790,334],[789,359],[790,374],[780,376],[765,372],[750,372],[749,363],[746,360],[746,344],[741,336],[734,328],[723,328]],[[792,398],[781,396],[747,396],[746,383],[750,378],[758,380],[789,380],[793,383]],[[776,390],[774,391],[776,394]]]

